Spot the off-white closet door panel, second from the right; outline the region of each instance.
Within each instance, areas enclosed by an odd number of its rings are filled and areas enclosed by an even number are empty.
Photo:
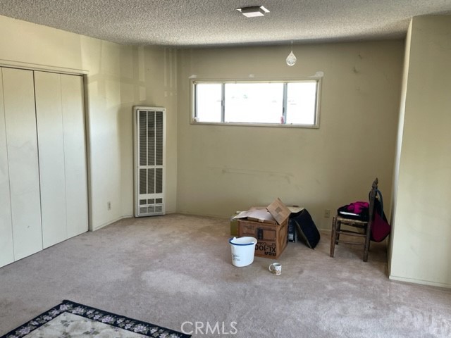
[[[35,91],[42,243],[47,248],[68,238],[60,75],[35,72]]]

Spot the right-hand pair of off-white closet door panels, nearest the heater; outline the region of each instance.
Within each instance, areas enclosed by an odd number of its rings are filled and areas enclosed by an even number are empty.
[[[35,72],[44,248],[88,230],[82,77]]]

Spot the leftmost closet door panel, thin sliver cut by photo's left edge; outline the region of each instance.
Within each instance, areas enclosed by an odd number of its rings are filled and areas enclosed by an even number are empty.
[[[0,266],[13,263],[13,261],[13,225],[11,223],[11,199],[9,198],[3,81],[0,68]]]

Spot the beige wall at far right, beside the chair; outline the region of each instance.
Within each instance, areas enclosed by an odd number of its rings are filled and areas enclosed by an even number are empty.
[[[451,287],[451,16],[407,39],[390,278]]]

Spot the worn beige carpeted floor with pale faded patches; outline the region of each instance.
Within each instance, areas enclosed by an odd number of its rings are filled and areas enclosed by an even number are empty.
[[[193,337],[451,337],[451,290],[388,280],[381,244],[330,258],[322,235],[289,243],[275,276],[231,264],[228,220],[121,220],[0,268],[0,335],[71,299]]]

